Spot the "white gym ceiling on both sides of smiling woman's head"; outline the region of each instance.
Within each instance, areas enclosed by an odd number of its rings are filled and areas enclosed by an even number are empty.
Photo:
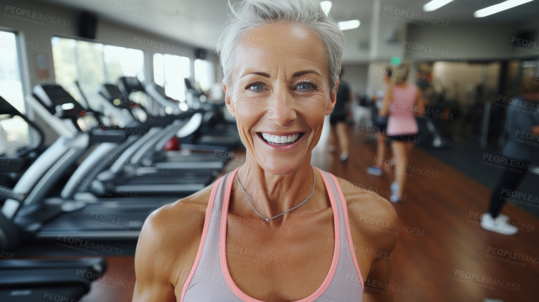
[[[215,50],[215,41],[222,32],[222,20],[226,14],[226,0],[119,0],[120,3],[139,6],[179,16],[179,23],[155,19],[155,22],[120,15],[115,8],[115,0],[41,0],[68,8],[96,13],[100,18],[136,27],[177,41]],[[436,11],[425,13],[421,9],[430,0],[381,0],[381,13],[385,6],[417,12],[423,15],[449,20],[450,22],[524,22],[537,20],[539,0],[517,6],[485,18],[474,18],[473,12],[503,0],[455,0]],[[363,24],[370,22],[374,0],[334,0],[331,15],[337,20],[360,19]],[[142,16],[142,15],[140,15]],[[381,18],[384,22],[384,18]],[[473,29],[471,29],[473,30]]]

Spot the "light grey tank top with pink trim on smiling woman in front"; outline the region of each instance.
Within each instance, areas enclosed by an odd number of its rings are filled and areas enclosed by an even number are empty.
[[[180,302],[263,302],[247,296],[230,276],[226,263],[226,222],[230,193],[236,170],[213,185],[195,262],[185,280]],[[361,302],[363,278],[357,265],[350,235],[344,195],[331,173],[316,168],[322,175],[333,209],[335,246],[329,272],[319,289],[294,302]],[[298,276],[299,277],[299,276]],[[300,277],[299,277],[300,278]],[[236,278],[237,279],[237,278]],[[298,279],[301,282],[301,279]]]

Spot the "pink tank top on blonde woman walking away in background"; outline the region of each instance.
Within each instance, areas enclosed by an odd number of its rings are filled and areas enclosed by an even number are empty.
[[[393,88],[393,102],[389,105],[388,135],[417,134],[416,108],[417,88],[408,84]]]

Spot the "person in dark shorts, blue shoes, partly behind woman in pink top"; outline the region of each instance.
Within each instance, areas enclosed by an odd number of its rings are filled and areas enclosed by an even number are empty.
[[[386,72],[384,73],[382,79],[384,80],[384,83],[387,87],[389,87],[389,81],[391,79],[391,68],[387,68]],[[384,172],[382,164],[384,162],[385,158],[385,143],[388,140],[387,128],[388,128],[388,117],[387,116],[380,116],[379,111],[380,108],[382,108],[382,104],[384,102],[384,90],[378,90],[377,94],[373,97],[375,99],[374,108],[375,112],[373,112],[373,123],[374,126],[377,127],[377,134],[376,134],[376,158],[378,160],[375,160],[375,164],[371,167],[367,168],[367,173],[371,175],[381,176]]]

